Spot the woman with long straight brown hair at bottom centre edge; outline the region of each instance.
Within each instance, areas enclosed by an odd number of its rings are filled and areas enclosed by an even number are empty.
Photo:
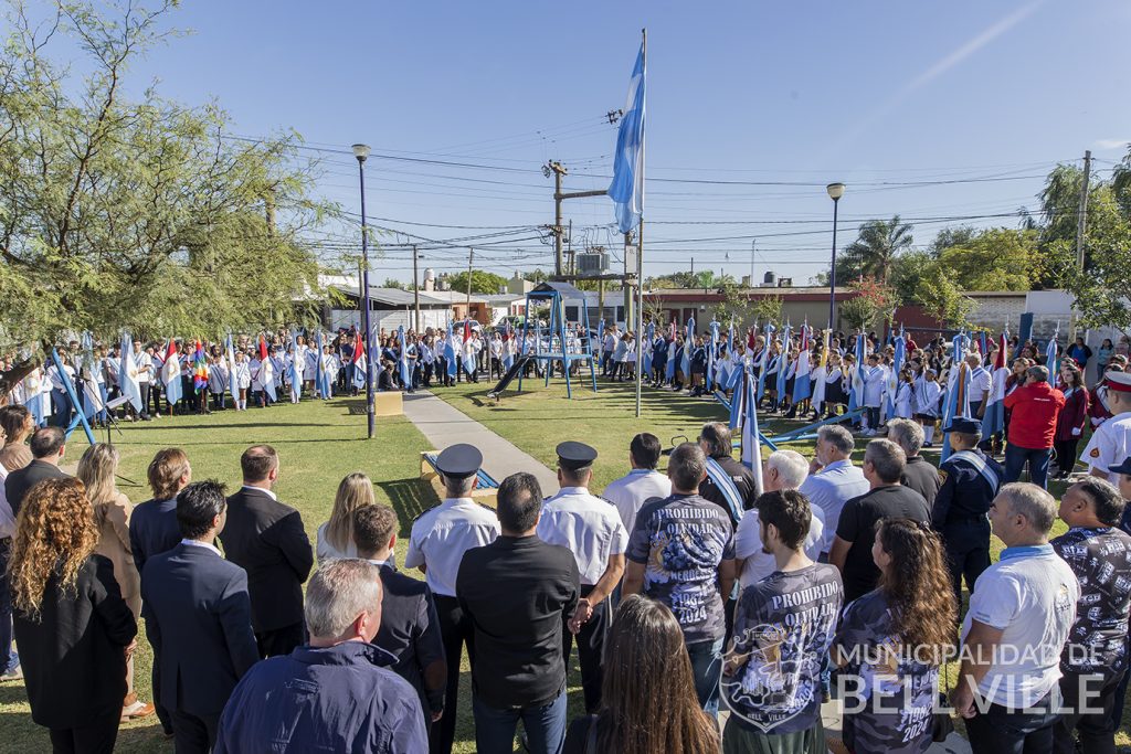
[[[570,725],[563,754],[717,754],[719,745],[675,616],[647,597],[625,598],[605,643],[601,710]]]

